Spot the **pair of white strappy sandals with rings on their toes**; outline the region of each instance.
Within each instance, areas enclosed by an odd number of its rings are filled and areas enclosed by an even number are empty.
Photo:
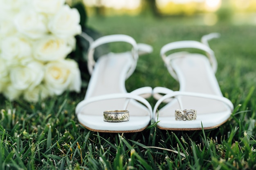
[[[171,42],[162,47],[160,54],[168,72],[180,83],[179,91],[165,87],[141,87],[130,93],[125,81],[134,72],[141,52],[151,52],[152,47],[137,44],[127,35],[103,36],[91,43],[88,50],[88,69],[91,74],[83,101],[76,106],[79,122],[96,132],[139,132],[153,119],[164,130],[200,130],[216,128],[229,119],[233,104],[222,96],[215,77],[217,62],[208,40],[212,33],[202,37],[202,42],[188,40]],[[127,42],[132,50],[109,53],[94,61],[96,47],[109,42]],[[195,48],[206,52],[192,54],[174,49]],[[145,98],[157,99],[152,108]],[[166,103],[159,109],[159,105]],[[161,105],[162,106],[162,105]]]

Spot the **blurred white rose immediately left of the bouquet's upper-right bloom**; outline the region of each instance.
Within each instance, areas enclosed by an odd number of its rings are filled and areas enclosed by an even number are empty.
[[[31,9],[24,9],[14,19],[16,29],[29,38],[41,38],[47,34],[46,18]]]

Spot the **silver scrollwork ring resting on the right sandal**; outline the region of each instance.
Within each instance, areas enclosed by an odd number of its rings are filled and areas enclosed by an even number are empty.
[[[195,109],[185,109],[175,110],[175,120],[176,121],[193,121],[196,119],[196,110]]]

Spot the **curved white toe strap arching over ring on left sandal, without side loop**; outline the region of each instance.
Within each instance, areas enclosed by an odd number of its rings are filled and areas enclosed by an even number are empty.
[[[83,107],[89,103],[110,100],[110,99],[118,99],[118,98],[135,99],[136,101],[143,103],[149,110],[150,118],[153,117],[152,107],[148,103],[148,101],[145,98],[138,96],[136,94],[132,94],[132,93],[116,93],[116,94],[106,94],[106,95],[102,95],[102,96],[91,97],[89,99],[83,100],[80,103],[78,103],[78,105],[76,106],[76,114],[79,114],[81,112],[81,110],[83,109]],[[123,108],[124,110],[126,110],[128,103],[129,103],[129,100],[125,103],[124,108]]]

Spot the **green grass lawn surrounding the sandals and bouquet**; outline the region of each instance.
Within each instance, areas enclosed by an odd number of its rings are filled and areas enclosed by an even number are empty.
[[[127,34],[154,47],[139,58],[126,81],[128,91],[143,86],[178,90],[160,48],[219,32],[221,37],[209,42],[219,65],[216,77],[235,107],[225,124],[213,130],[166,131],[153,123],[143,132],[97,133],[83,128],[74,113],[85,90],[38,103],[1,96],[0,169],[256,169],[256,26],[209,27],[193,21],[122,16],[89,18],[88,25],[103,35]]]

